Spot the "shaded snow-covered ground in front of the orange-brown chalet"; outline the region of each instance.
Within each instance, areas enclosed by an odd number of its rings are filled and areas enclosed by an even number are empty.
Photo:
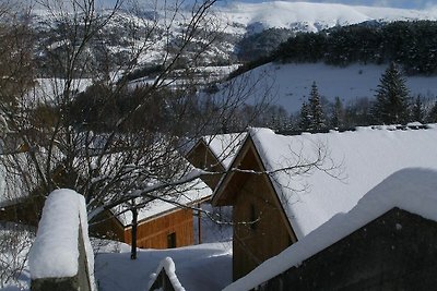
[[[160,262],[172,257],[176,275],[186,290],[222,290],[232,282],[229,243],[206,243],[172,250],[142,250],[137,260],[130,259],[130,246],[121,253],[99,253],[95,277],[101,291],[146,290],[150,275]]]

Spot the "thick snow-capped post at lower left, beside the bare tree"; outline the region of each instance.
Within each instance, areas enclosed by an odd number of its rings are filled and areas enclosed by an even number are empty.
[[[85,199],[72,190],[47,198],[29,252],[32,290],[95,290]]]

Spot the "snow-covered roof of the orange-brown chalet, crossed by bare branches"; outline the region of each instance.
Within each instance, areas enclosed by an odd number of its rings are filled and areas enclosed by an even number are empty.
[[[176,186],[170,193],[160,196],[149,202],[144,207],[138,209],[138,221],[152,219],[160,215],[173,211],[182,206],[190,206],[197,202],[208,199],[212,195],[212,190],[201,180],[196,179],[187,184]],[[138,201],[137,203],[141,203]],[[111,209],[123,227],[129,227],[132,222],[132,211],[128,210],[129,205],[123,204]]]

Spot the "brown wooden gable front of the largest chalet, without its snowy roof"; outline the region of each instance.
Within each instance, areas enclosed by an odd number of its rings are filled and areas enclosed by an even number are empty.
[[[249,137],[234,165],[265,171]],[[233,278],[247,275],[296,242],[296,235],[267,174],[229,172],[213,196],[213,206],[233,206]]]

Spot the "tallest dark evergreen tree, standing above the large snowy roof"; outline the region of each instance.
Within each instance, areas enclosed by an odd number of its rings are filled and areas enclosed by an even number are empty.
[[[406,123],[409,89],[397,65],[391,62],[382,74],[373,108],[375,121],[385,124]]]

